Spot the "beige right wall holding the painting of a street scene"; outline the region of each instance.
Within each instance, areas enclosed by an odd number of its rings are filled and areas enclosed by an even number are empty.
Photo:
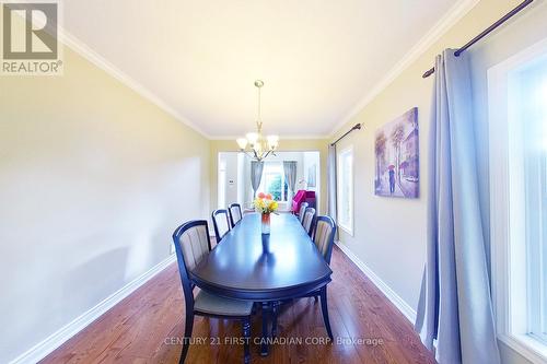
[[[426,260],[429,119],[433,78],[421,74],[434,63],[444,48],[457,48],[481,32],[520,0],[481,0],[458,24],[410,64],[385,90],[340,128],[333,140],[356,122],[364,130],[352,133],[339,148],[354,148],[354,236],[341,232],[340,240],[376,275],[416,309]],[[536,2],[526,13],[468,51],[473,72],[473,91],[478,158],[481,178],[481,207],[488,226],[488,98],[487,70],[540,38],[547,37],[547,4]],[[396,199],[374,196],[374,132],[414,106],[419,108],[420,198]],[[526,363],[522,356],[501,344],[504,363]]]

